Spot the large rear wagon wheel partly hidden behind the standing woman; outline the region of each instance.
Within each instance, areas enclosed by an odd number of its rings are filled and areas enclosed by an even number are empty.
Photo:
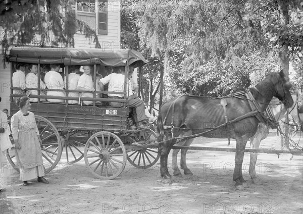
[[[41,138],[41,151],[44,166],[44,173],[51,172],[58,164],[62,154],[62,142],[56,127],[41,116],[35,115],[36,124]],[[13,137],[10,137],[14,144]],[[50,158],[52,154],[52,158]],[[16,150],[13,148],[7,151],[7,158],[11,166],[19,172],[17,166]]]

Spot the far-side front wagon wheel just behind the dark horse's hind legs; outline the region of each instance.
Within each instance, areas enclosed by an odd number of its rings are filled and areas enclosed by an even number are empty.
[[[127,136],[127,142],[130,143],[153,139],[156,141],[157,134],[151,129],[144,129]],[[146,169],[154,166],[159,158],[160,154],[158,153],[158,149],[154,148],[135,147],[132,151],[127,153],[128,162],[139,169]]]

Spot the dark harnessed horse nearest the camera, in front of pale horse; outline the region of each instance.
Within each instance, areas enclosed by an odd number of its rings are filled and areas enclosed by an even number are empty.
[[[271,73],[245,93],[238,92],[222,99],[182,95],[162,104],[157,122],[161,176],[164,179],[171,178],[167,158],[180,134],[193,134],[191,137],[227,137],[236,140],[233,173],[235,187],[240,190],[247,188],[241,170],[246,143],[256,134],[259,122],[264,121],[262,112],[273,96],[287,107],[293,104],[290,87],[291,84],[285,80],[281,71]]]

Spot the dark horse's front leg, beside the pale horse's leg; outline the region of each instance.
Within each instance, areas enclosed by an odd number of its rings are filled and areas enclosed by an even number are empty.
[[[233,180],[236,182],[235,187],[243,190],[247,187],[247,183],[242,176],[242,164],[244,157],[244,149],[248,139],[236,138],[236,156],[235,156],[235,169],[233,173]]]

